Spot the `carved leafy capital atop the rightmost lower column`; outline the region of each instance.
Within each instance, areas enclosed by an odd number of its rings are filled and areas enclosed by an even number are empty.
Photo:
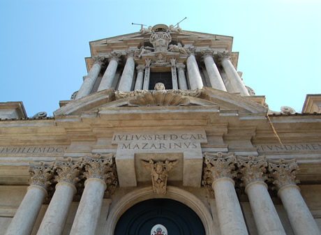
[[[269,160],[268,164],[269,176],[274,179],[273,183],[276,185],[277,190],[280,190],[286,185],[297,185],[297,183],[300,183],[300,181],[296,179],[296,174],[299,171],[296,160]]]

